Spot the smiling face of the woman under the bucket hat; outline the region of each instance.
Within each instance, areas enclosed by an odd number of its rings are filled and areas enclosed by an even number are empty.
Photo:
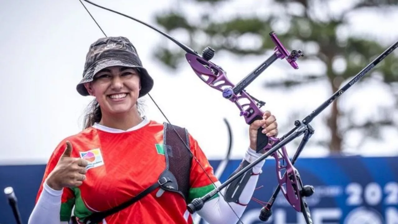
[[[95,96],[102,114],[129,113],[136,109],[140,91],[137,70],[114,66],[102,69],[91,83],[85,83],[90,95]]]

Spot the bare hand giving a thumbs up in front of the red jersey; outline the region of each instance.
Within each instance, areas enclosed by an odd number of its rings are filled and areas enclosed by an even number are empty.
[[[78,187],[86,179],[88,161],[71,157],[72,149],[72,143],[66,141],[65,151],[47,177],[47,185],[54,190],[60,191],[64,187]]]

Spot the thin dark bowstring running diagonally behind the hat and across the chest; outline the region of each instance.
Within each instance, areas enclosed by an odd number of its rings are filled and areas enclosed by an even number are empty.
[[[86,1],[86,0],[85,0]],[[79,0],[79,2],[82,4],[82,6],[84,7],[84,9],[86,9],[86,11],[88,12],[88,14],[90,15],[90,17],[94,20],[94,22],[97,24],[98,28],[100,28],[101,32],[103,33],[103,35],[105,35],[105,37],[107,37],[106,33],[103,31],[103,29],[101,28],[100,24],[98,24],[98,22],[96,21],[96,19],[94,18],[94,16],[92,16],[92,14],[90,13],[90,11],[88,10],[88,8],[83,4],[82,0]],[[86,1],[88,2],[88,1]],[[100,7],[102,9],[117,13],[119,15],[122,16],[126,16],[127,18],[129,18],[129,16],[122,14],[120,12],[116,12],[114,10],[105,8],[103,6],[99,6],[97,4],[94,4],[92,2],[89,2],[90,4],[93,4],[94,6]],[[181,142],[185,145],[185,147],[188,149],[189,153],[191,153],[192,157],[195,159],[195,161],[199,164],[199,166],[203,169],[203,171],[205,172],[205,174],[207,175],[207,177],[209,178],[209,180],[211,181],[211,183],[213,183],[213,185],[217,188],[217,185],[214,183],[214,181],[211,179],[211,177],[209,176],[209,174],[207,174],[205,168],[202,166],[202,164],[199,162],[199,160],[195,157],[195,155],[193,155],[193,153],[191,152],[191,150],[189,149],[188,145],[185,143],[185,141],[181,138],[181,136],[179,136],[177,130],[174,128],[174,126],[172,125],[172,123],[169,121],[169,119],[166,117],[166,115],[163,113],[162,109],[160,109],[160,107],[158,106],[158,104],[155,102],[155,100],[152,98],[152,96],[148,93],[148,96],[150,97],[150,99],[152,100],[152,102],[155,104],[155,106],[158,108],[158,110],[160,111],[160,113],[162,113],[163,117],[167,120],[167,122],[172,126],[174,132],[177,134],[178,138],[181,140]],[[218,192],[222,197],[224,197],[224,195],[222,195],[221,191]],[[238,214],[236,214],[234,208],[232,208],[232,206],[229,204],[229,202],[227,202],[228,206],[231,208],[232,212],[234,212],[235,216],[238,218],[239,222],[241,222],[242,224],[244,224],[242,222],[242,220],[240,219],[240,217],[238,216]]]

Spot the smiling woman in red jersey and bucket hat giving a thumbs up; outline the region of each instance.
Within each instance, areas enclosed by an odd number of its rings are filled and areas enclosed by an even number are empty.
[[[83,79],[76,89],[82,96],[95,98],[91,111],[86,114],[84,130],[62,140],[53,151],[29,224],[67,224],[72,208],[77,222],[86,223],[93,214],[136,197],[160,180],[168,167],[165,156],[172,161],[176,154],[168,155],[164,146],[165,125],[142,116],[137,106],[153,83],[127,38],[100,38],[90,45]],[[237,170],[261,156],[256,153],[260,127],[267,136],[277,135],[275,116],[267,111],[263,120],[250,125],[250,144]],[[220,185],[220,181],[198,142],[185,133],[192,155],[189,169],[184,177],[178,172],[173,175],[179,183],[186,183],[186,191],[155,186],[98,223],[193,223],[187,203],[209,193],[215,189],[213,183]],[[231,183],[221,191],[222,196],[215,195],[197,213],[210,224],[236,223],[253,195],[264,162],[250,170],[250,178]],[[168,180],[173,183],[174,179]]]

